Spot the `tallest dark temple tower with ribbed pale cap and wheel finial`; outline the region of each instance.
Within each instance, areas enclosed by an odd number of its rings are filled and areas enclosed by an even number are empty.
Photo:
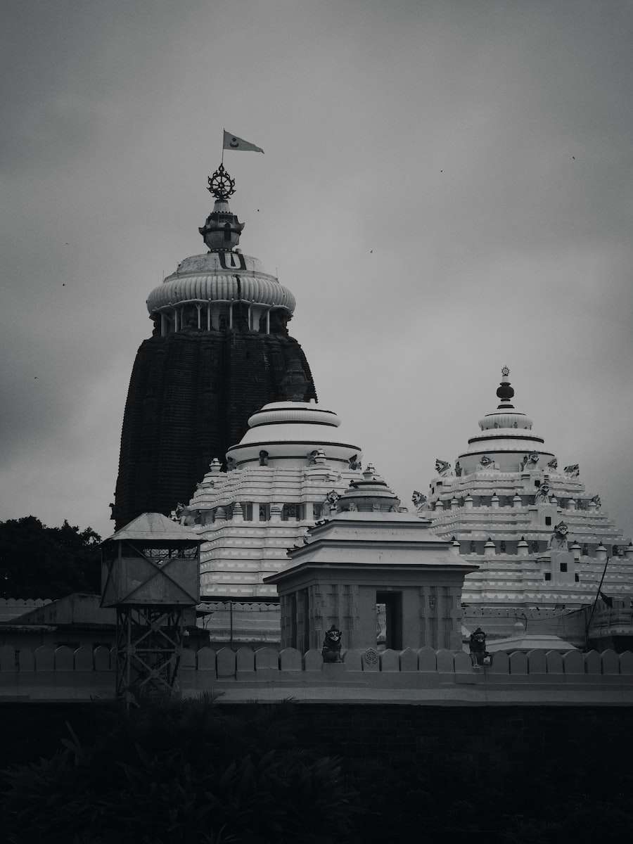
[[[185,258],[147,300],[154,323],[127,392],[112,518],[169,514],[191,499],[263,404],[317,398],[306,355],[289,336],[295,297],[238,248],[235,181],[208,178],[214,210],[199,229],[208,252]]]

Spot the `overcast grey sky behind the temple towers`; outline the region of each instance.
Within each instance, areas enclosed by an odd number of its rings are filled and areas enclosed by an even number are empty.
[[[145,299],[212,200],[403,502],[511,367],[633,531],[633,4],[4,0],[0,519],[111,533]]]

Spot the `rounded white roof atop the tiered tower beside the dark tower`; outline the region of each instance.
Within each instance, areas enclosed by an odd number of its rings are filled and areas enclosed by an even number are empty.
[[[248,420],[249,430],[241,441],[226,452],[235,465],[259,460],[259,452],[268,457],[308,457],[322,449],[330,460],[348,463],[360,457],[360,446],[342,439],[338,428],[341,420],[331,410],[309,402],[272,402]]]

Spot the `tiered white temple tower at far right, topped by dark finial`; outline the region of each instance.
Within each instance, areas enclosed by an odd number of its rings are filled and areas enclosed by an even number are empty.
[[[608,556],[603,592],[633,593],[633,544],[623,544],[600,496],[587,493],[577,464],[559,468],[532,419],[514,407],[509,374],[505,366],[500,403],[479,420],[454,468],[436,461],[428,500],[414,494],[434,532],[479,564],[464,583],[465,623],[482,613],[515,621],[592,603]],[[571,552],[563,561],[551,553],[561,547]]]

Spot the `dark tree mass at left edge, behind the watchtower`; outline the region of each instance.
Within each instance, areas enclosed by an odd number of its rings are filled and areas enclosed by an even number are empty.
[[[63,598],[100,592],[101,538],[64,521],[46,527],[35,516],[0,522],[0,598]]]

